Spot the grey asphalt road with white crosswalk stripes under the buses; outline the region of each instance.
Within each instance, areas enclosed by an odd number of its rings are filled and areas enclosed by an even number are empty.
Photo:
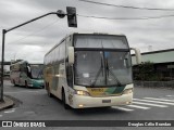
[[[88,108],[78,110],[65,110],[58,99],[48,98],[45,89],[26,89],[22,87],[13,87],[10,82],[5,82],[4,93],[7,95],[13,96],[17,105],[15,105],[13,108],[0,112],[0,120],[174,119],[174,90],[169,89],[135,88],[133,105],[122,107],[114,106],[111,108]],[[63,129],[69,129],[69,127]],[[98,129],[102,130],[104,128]],[[108,129],[114,128],[110,127]],[[123,128],[119,129],[122,130]]]

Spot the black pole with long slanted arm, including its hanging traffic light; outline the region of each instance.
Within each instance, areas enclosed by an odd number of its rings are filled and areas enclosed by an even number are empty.
[[[4,65],[4,41],[5,41],[5,34],[13,30],[13,29],[16,29],[21,26],[24,26],[26,24],[29,24],[32,22],[35,22],[39,18],[42,18],[45,16],[48,16],[50,14],[57,14],[60,18],[63,18],[65,15],[67,15],[67,23],[69,23],[69,26],[70,27],[77,27],[77,21],[76,21],[76,9],[75,8],[72,8],[72,6],[66,6],[66,11],[67,11],[67,14],[65,14],[62,10],[59,10],[57,12],[50,12],[50,13],[47,13],[47,14],[44,14],[41,16],[38,16],[36,18],[33,18],[30,21],[27,21],[23,24],[20,24],[17,26],[14,26],[10,29],[2,29],[2,61],[1,61],[1,87],[0,87],[0,102],[3,102],[3,65]]]

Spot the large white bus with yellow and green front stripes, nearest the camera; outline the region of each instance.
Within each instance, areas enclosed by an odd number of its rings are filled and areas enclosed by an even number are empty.
[[[128,105],[133,102],[130,50],[125,35],[78,34],[63,38],[46,55],[45,88],[64,108]]]

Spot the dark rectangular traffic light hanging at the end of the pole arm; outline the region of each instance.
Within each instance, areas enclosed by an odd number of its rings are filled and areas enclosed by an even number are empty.
[[[77,27],[76,9],[66,6],[69,27]]]

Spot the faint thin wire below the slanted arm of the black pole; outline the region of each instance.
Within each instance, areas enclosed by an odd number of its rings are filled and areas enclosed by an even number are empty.
[[[52,26],[52,25],[53,25],[53,24],[55,24],[57,22],[58,22],[58,20],[57,20],[57,21],[54,21],[54,22],[52,22],[52,23],[51,23],[51,24],[49,24],[49,25],[46,25],[45,27],[42,27],[41,29],[39,29],[39,30],[37,30],[37,31],[34,31],[34,32],[32,32],[32,34],[29,34],[29,35],[27,35],[27,36],[25,36],[25,37],[21,38],[21,39],[17,39],[17,40],[14,40],[14,41],[8,42],[7,44],[9,44],[9,43],[14,43],[14,42],[18,42],[18,41],[22,41],[22,40],[24,40],[24,39],[26,39],[26,38],[28,38],[28,37],[30,37],[30,36],[33,36],[33,35],[36,35],[36,34],[38,34],[38,32],[40,32],[40,31],[45,30],[46,28],[48,28],[49,26]]]

